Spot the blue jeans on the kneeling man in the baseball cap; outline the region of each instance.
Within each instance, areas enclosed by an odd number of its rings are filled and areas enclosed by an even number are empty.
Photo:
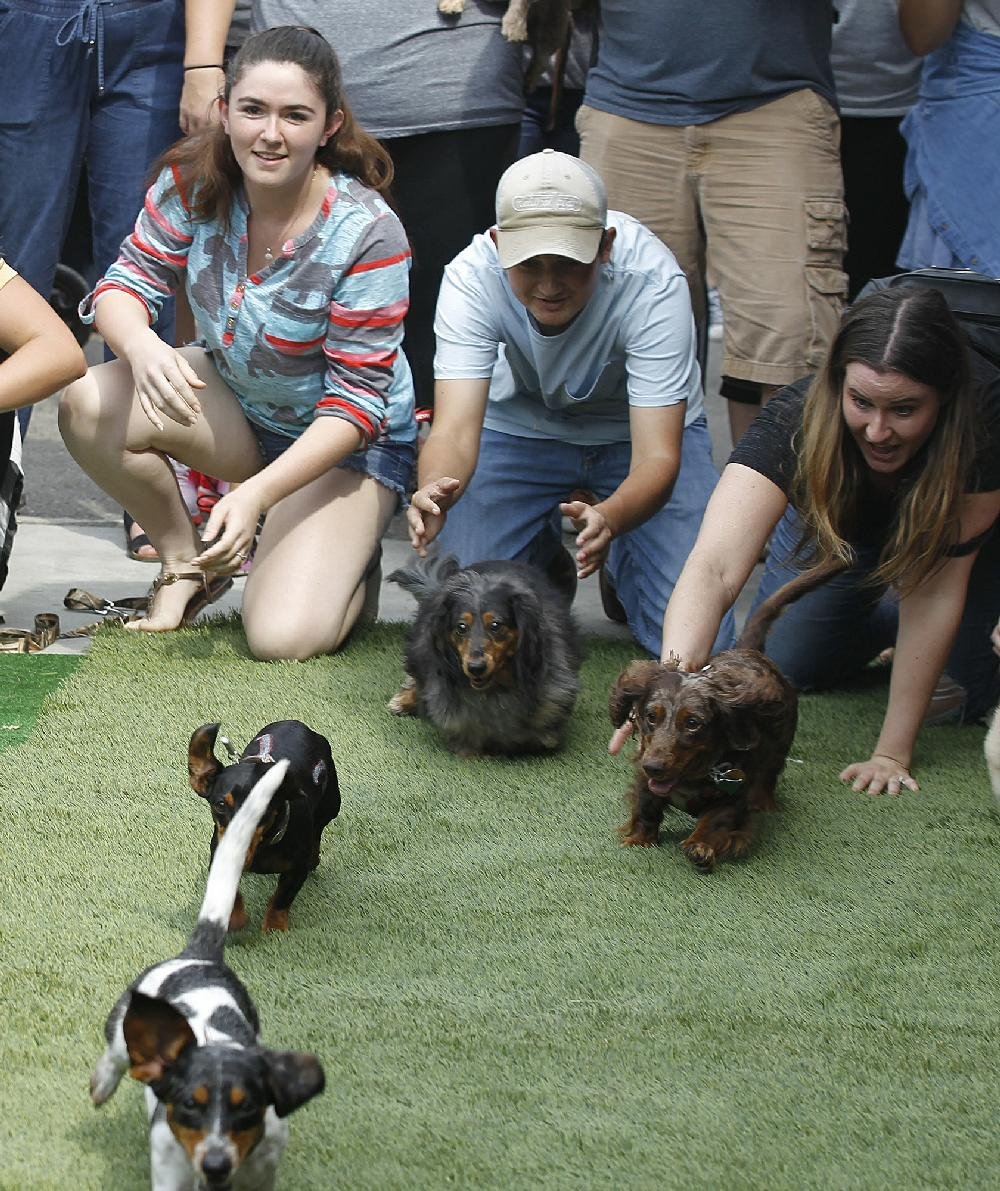
[[[546,567],[561,548],[560,501],[574,488],[605,500],[629,474],[631,444],[580,447],[483,430],[475,474],[448,513],[438,541],[462,566],[514,559]],[[696,418],[681,438],[681,469],[667,504],[611,544],[607,573],[643,649],[658,656],[663,612],[690,554],[718,482],[708,424]],[[727,613],[717,649],[733,642]]]

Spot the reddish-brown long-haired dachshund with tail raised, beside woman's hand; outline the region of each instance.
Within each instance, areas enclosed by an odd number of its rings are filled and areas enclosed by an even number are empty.
[[[698,819],[681,850],[699,868],[710,872],[715,861],[746,852],[751,812],[775,806],[799,706],[795,688],[760,650],[786,605],[842,569],[824,563],[779,588],[736,648],[694,674],[652,661],[621,673],[608,712],[617,728],[632,721],[639,744],[623,844],[655,844],[669,803]]]

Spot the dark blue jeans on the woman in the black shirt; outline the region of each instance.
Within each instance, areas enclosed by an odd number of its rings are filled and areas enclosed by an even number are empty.
[[[789,506],[770,542],[756,607],[799,574],[794,560],[801,536],[799,515]],[[768,635],[765,653],[801,691],[836,686],[857,674],[895,643],[896,600],[885,588],[864,584],[879,563],[876,549],[858,550],[857,565],[804,596],[781,613]],[[965,688],[963,718],[982,718],[1000,697],[1000,666],[989,632],[1000,611],[1000,528],[980,548],[946,673]]]

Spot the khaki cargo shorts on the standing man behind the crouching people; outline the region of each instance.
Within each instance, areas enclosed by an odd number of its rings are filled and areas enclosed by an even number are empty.
[[[608,205],[677,257],[699,323],[711,274],[725,316],[724,375],[787,385],[815,369],[848,287],[839,120],[830,104],[798,91],[680,126],[585,105],[576,126]]]

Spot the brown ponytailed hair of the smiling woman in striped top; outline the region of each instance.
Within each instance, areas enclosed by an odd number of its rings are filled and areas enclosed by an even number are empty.
[[[362,129],[345,102],[340,63],[326,38],[304,25],[277,25],[249,37],[226,68],[223,89],[226,102],[243,75],[262,62],[290,62],[301,67],[323,96],[326,118],[338,108],[344,113],[338,131],[317,149],[317,162],[332,173],[351,174],[390,201],[392,157]],[[220,124],[212,124],[171,145],[154,166],[154,176],[165,167],[175,168],[181,197],[189,201],[195,219],[219,219],[229,225],[233,194],[242,185],[243,173]]]

